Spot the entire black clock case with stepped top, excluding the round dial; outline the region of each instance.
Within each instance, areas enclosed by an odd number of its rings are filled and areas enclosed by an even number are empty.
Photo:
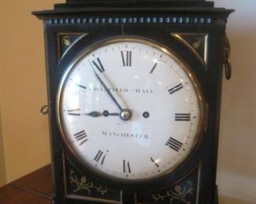
[[[53,203],[217,203],[225,25],[232,11],[204,0],[66,0],[33,12],[44,25]],[[206,125],[195,151],[173,173],[142,184],[115,183],[84,169],[61,140],[56,118],[65,63],[81,49],[117,36],[148,38],[173,49],[191,67],[206,100]]]

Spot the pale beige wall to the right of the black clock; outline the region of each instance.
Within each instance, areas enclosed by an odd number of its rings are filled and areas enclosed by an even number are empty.
[[[223,81],[217,183],[222,195],[256,203],[256,1],[214,2],[236,9],[227,26],[233,75]]]

